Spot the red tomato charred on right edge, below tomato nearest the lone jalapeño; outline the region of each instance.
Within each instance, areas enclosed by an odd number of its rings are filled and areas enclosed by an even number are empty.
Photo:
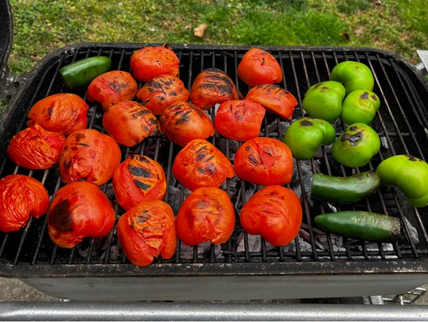
[[[106,132],[123,146],[135,146],[160,132],[156,116],[134,101],[119,102],[107,108],[102,124]]]

